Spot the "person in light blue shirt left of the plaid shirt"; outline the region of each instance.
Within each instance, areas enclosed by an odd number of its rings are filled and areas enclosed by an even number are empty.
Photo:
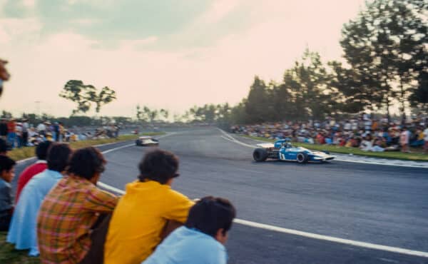
[[[49,144],[44,144],[49,146]],[[46,155],[46,150],[44,150]],[[47,169],[29,181],[21,192],[14,210],[7,242],[17,250],[29,249],[29,255],[39,255],[37,248],[36,220],[41,202],[51,188],[63,178],[71,148],[68,144],[53,144],[49,149]],[[46,156],[44,157],[46,158]]]

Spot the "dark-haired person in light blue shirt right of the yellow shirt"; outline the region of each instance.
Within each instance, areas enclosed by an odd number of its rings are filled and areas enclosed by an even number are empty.
[[[228,200],[202,198],[190,209],[185,226],[171,233],[143,264],[226,264],[224,244],[235,215]]]

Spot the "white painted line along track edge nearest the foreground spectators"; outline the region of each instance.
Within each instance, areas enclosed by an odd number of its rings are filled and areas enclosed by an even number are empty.
[[[123,190],[115,188],[113,186],[109,186],[106,183],[98,183],[98,186],[100,186],[101,188],[104,188],[108,191],[113,191],[115,193],[120,193],[120,194],[125,193]],[[344,239],[344,238],[335,238],[335,237],[328,236],[328,235],[318,235],[315,233],[308,233],[308,232],[303,232],[303,231],[299,231],[299,230],[293,230],[293,229],[288,229],[288,228],[280,228],[280,227],[275,226],[275,225],[266,225],[263,223],[255,223],[255,222],[243,220],[243,219],[235,219],[234,222],[238,223],[240,225],[250,226],[252,228],[260,228],[260,229],[264,229],[264,230],[270,230],[270,231],[275,231],[275,232],[279,232],[279,233],[286,233],[286,234],[290,234],[290,235],[299,235],[299,236],[302,236],[305,238],[313,238],[313,239],[317,239],[317,240],[326,240],[326,241],[330,241],[330,242],[334,242],[334,243],[340,243],[340,244],[345,244],[345,245],[353,245],[353,246],[360,247],[360,248],[370,248],[370,249],[374,249],[374,250],[383,250],[383,251],[389,251],[392,253],[399,253],[399,254],[404,254],[404,255],[414,255],[414,256],[418,256],[418,257],[428,258],[428,252],[423,252],[423,251],[409,250],[406,248],[390,247],[388,245],[377,245],[377,244],[373,244],[373,243],[366,243],[366,242],[355,241],[355,240]]]

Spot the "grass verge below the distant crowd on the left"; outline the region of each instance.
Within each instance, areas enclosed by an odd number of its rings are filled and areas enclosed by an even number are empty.
[[[141,133],[141,136],[159,136],[164,135],[164,132],[151,132],[151,133]],[[87,141],[76,141],[71,142],[71,148],[84,148],[87,146],[101,145],[107,143],[117,143],[121,141],[130,141],[136,139],[137,135],[122,135],[118,138],[101,138],[101,139],[91,139]],[[24,158],[31,158],[34,156],[34,147],[26,148],[15,148],[12,151],[9,151],[8,156],[13,158],[15,161],[22,160]]]

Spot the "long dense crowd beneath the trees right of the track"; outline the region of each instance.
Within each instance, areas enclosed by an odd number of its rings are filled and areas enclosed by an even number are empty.
[[[409,152],[409,147],[414,147],[428,152],[428,118],[424,116],[389,122],[388,118],[372,118],[365,113],[343,121],[327,117],[324,121],[232,126],[230,130],[247,136],[289,138],[300,143],[355,147],[363,151]]]

